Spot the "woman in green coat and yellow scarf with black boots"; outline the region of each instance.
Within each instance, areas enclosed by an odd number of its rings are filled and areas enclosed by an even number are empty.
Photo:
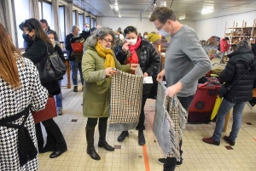
[[[114,148],[106,142],[106,132],[109,117],[110,83],[111,76],[116,74],[113,68],[120,71],[131,72],[137,64],[120,65],[116,60],[113,50],[114,32],[108,27],[102,27],[91,37],[90,44],[84,53],[82,70],[84,76],[84,117],[88,117],[86,124],[87,154],[92,159],[100,160],[101,157],[94,148],[94,132],[99,118],[100,139],[98,147],[107,151]]]

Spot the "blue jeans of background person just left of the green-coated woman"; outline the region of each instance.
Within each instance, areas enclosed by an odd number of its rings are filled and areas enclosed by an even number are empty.
[[[69,61],[71,69],[72,69],[72,82],[73,86],[78,86],[78,70],[80,72],[80,78],[81,78],[81,83],[84,85],[84,77],[83,77],[83,72],[82,72],[82,62],[78,62],[76,60],[71,60]]]

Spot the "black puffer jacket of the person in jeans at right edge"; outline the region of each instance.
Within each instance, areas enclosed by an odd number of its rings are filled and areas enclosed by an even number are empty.
[[[252,51],[241,47],[229,54],[228,57],[230,60],[221,73],[221,79],[228,87],[235,83],[247,71],[248,67],[251,69],[230,88],[230,91],[224,95],[224,99],[233,103],[252,100],[253,84],[256,78],[256,60]]]

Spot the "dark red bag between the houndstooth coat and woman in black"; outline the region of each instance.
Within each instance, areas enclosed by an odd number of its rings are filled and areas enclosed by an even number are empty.
[[[42,111],[32,111],[32,116],[34,117],[35,123],[40,123],[45,120],[57,117],[57,110],[55,105],[55,98],[53,95],[49,95],[47,103],[44,110]]]

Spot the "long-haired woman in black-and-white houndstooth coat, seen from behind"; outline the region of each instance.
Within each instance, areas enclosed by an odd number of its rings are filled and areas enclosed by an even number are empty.
[[[32,111],[44,109],[48,91],[31,60],[23,58],[0,23],[0,170],[38,169]]]

